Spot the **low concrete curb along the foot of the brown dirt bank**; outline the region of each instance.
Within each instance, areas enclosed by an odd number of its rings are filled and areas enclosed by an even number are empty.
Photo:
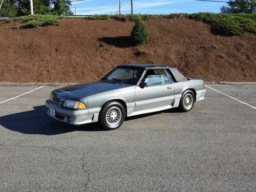
[[[74,82],[0,82],[0,86],[71,86]],[[256,82],[205,82],[205,84],[256,85]]]

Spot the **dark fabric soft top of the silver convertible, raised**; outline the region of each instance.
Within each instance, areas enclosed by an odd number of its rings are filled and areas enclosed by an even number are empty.
[[[169,69],[172,72],[177,82],[188,81],[184,75],[182,75],[175,66],[164,66],[164,65],[152,65],[152,64],[129,64],[118,67],[132,67],[132,68],[143,68],[143,69]]]

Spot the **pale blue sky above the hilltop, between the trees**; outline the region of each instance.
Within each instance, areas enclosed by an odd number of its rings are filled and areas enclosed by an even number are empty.
[[[218,0],[213,0],[218,1]],[[228,0],[221,0],[228,1]],[[77,15],[116,14],[119,0],[86,0],[73,2],[71,9]],[[202,2],[196,0],[133,0],[135,14],[168,14],[168,13],[197,13],[220,12],[221,2]],[[121,13],[131,13],[131,0],[121,0]]]

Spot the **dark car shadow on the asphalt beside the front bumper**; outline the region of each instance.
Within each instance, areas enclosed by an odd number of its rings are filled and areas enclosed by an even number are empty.
[[[73,131],[102,131],[97,123],[81,126],[70,125],[49,117],[46,106],[34,106],[34,110],[0,117],[0,125],[23,134],[58,135]]]

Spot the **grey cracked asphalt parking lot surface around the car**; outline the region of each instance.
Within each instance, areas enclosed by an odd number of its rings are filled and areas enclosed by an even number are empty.
[[[256,84],[208,86],[248,105],[206,87],[114,131],[48,117],[56,86],[1,86],[0,191],[255,191]]]

